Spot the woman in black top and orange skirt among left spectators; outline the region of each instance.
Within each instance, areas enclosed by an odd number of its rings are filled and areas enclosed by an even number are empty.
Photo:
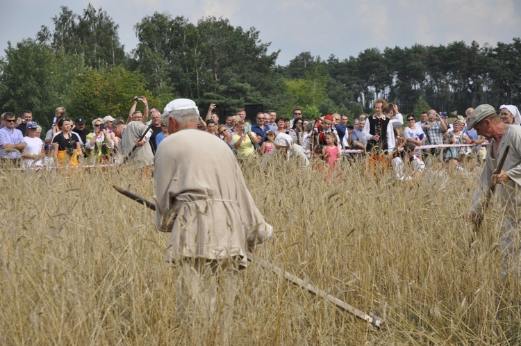
[[[78,156],[82,155],[80,139],[71,132],[72,120],[68,117],[60,117],[58,129],[61,131],[52,140],[54,158],[62,166],[79,165]]]

